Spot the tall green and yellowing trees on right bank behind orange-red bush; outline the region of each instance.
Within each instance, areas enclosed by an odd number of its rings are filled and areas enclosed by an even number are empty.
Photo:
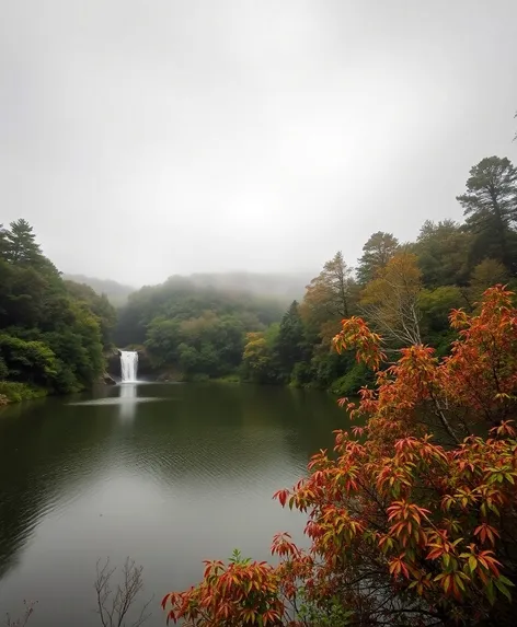
[[[356,392],[371,373],[352,352],[331,350],[341,321],[353,315],[381,333],[389,350],[426,344],[446,355],[457,337],[451,310],[472,312],[490,286],[517,285],[517,170],[508,159],[483,159],[457,200],[463,223],[426,220],[407,243],[378,231],[356,268],[336,253],[279,324],[248,335],[242,375]]]

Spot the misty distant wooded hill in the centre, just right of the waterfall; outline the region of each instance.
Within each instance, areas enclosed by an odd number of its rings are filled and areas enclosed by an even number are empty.
[[[245,334],[280,316],[275,301],[171,277],[131,294],[115,339],[118,346],[145,344],[154,368],[177,369],[187,381],[221,378],[239,370]]]

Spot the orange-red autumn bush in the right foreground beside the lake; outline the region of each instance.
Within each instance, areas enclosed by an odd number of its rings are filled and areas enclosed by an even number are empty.
[[[475,315],[452,311],[443,359],[425,346],[388,364],[381,338],[343,321],[336,350],[376,372],[358,426],[336,431],[308,475],[276,492],[308,515],[310,548],[273,541],[278,564],[207,561],[163,599],[189,626],[515,625],[517,310],[497,286]],[[359,426],[359,422],[364,426]]]

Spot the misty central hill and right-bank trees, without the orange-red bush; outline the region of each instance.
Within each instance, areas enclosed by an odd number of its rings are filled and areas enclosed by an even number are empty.
[[[457,200],[463,223],[426,221],[414,242],[372,233],[356,267],[336,253],[282,320],[273,302],[173,277],[129,298],[116,341],[145,345],[157,367],[186,379],[238,373],[336,393],[371,376],[352,353],[330,348],[345,317],[365,317],[388,349],[424,342],[446,355],[450,311],[474,311],[487,287],[516,285],[517,170],[508,159],[483,159]]]

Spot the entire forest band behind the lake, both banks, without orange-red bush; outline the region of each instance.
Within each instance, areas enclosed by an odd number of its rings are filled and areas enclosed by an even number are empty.
[[[490,286],[517,285],[516,167],[483,159],[457,200],[462,223],[427,220],[414,242],[375,232],[355,267],[335,253],[287,311],[278,294],[208,275],[172,276],[129,295],[125,288],[127,302],[115,310],[105,294],[66,280],[18,220],[0,230],[0,394],[15,400],[90,387],[115,346],[138,349],[152,376],[354,394],[371,372],[353,351],[331,349],[342,320],[354,315],[388,350],[424,344],[445,356],[457,337],[451,310],[473,312]]]

